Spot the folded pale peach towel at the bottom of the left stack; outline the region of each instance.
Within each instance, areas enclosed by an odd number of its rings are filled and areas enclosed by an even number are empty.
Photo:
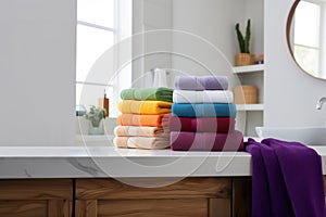
[[[152,138],[152,137],[115,137],[113,143],[117,148],[131,149],[147,149],[158,150],[170,146],[170,139],[167,138]]]

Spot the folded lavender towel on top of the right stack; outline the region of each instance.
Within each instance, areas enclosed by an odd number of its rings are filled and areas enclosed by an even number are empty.
[[[176,76],[174,80],[177,90],[227,90],[226,76]]]

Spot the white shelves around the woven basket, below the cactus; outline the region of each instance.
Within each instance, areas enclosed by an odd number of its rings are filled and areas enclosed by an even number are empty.
[[[233,72],[241,85],[254,85],[259,88],[258,104],[237,104],[238,129],[244,137],[256,137],[255,126],[263,126],[264,116],[264,64],[235,66]]]

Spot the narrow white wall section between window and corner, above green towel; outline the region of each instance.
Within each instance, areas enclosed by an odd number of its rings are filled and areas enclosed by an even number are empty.
[[[133,1],[133,87],[152,86],[150,71],[171,67],[172,1]]]

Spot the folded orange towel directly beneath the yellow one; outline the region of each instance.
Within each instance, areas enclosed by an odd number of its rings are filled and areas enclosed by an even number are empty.
[[[117,117],[118,125],[122,126],[148,126],[148,127],[166,127],[168,125],[170,114],[160,115],[137,115],[121,114]]]

